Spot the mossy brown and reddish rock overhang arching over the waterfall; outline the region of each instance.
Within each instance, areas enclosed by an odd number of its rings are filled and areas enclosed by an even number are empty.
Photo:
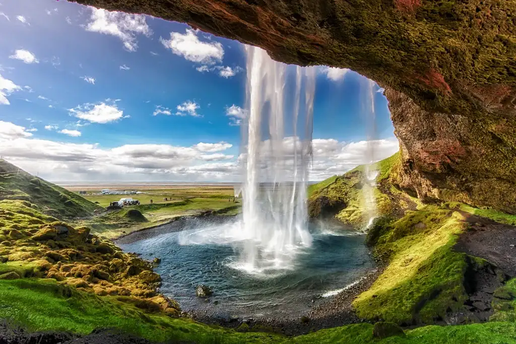
[[[388,88],[399,185],[516,212],[516,3],[499,0],[74,0],[349,68]]]

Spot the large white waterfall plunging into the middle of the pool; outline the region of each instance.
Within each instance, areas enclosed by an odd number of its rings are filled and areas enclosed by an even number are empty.
[[[291,268],[296,252],[312,242],[306,188],[312,157],[315,69],[296,67],[294,92],[286,92],[286,64],[273,61],[258,47],[246,46],[246,55],[240,228],[245,240],[237,264],[240,269],[262,273]],[[289,112],[285,108],[291,95]]]

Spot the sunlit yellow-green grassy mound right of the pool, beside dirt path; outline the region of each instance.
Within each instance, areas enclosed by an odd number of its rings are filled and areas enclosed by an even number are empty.
[[[382,228],[375,254],[389,261],[371,288],[353,302],[360,317],[410,324],[431,323],[466,299],[462,285],[465,256],[453,251],[465,228],[462,216],[451,210],[408,211]],[[454,301],[456,300],[456,301]]]

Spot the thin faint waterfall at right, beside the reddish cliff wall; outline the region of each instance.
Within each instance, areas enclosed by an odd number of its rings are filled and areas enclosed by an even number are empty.
[[[367,131],[367,148],[366,148],[366,160],[364,174],[365,181],[363,187],[364,194],[364,203],[366,209],[366,217],[367,224],[366,229],[369,228],[370,225],[373,224],[373,220],[378,215],[376,208],[376,198],[375,198],[375,187],[376,187],[376,177],[378,176],[378,170],[376,169],[376,164],[374,163],[375,159],[375,151],[376,151],[376,116],[375,116],[375,92],[374,81],[367,80],[367,101],[365,102],[370,107],[366,107],[365,109],[365,117],[368,131]]]

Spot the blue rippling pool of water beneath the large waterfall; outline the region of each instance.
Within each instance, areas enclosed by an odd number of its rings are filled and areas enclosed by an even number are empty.
[[[234,222],[188,219],[119,245],[143,259],[162,259],[155,269],[163,279],[160,291],[183,310],[219,315],[295,317],[375,267],[362,233],[317,221],[309,226],[311,247],[299,249],[288,269],[250,274],[238,269],[241,242],[227,235]],[[213,288],[208,301],[196,297],[199,284]]]

